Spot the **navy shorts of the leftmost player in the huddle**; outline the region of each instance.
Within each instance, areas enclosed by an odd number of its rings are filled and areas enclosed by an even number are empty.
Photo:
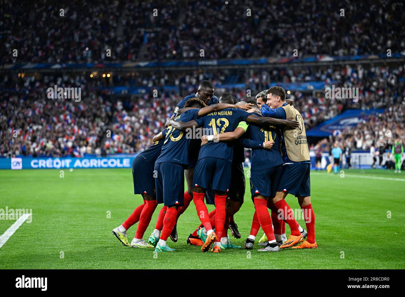
[[[134,180],[134,194],[148,194],[156,197],[153,168],[148,166],[141,157],[135,157],[132,162],[132,179]]]

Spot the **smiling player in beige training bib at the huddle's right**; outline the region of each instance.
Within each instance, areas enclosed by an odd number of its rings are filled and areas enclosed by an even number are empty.
[[[285,127],[282,131],[281,151],[284,164],[273,204],[290,226],[291,235],[280,248],[292,246],[296,249],[316,249],[315,214],[311,204],[311,161],[303,118],[293,105],[286,102],[286,91],[280,86],[273,86],[267,91],[266,105],[262,105],[260,110],[266,117],[293,118],[300,123],[298,128]],[[298,198],[298,203],[303,211],[308,232],[305,241],[298,229],[292,209],[285,201],[288,193]],[[296,246],[300,242],[302,244]]]

